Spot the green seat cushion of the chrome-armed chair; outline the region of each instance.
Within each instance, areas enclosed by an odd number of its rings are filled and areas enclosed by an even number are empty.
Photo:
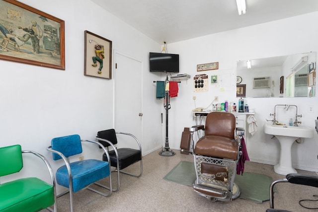
[[[53,186],[38,178],[23,178],[0,185],[0,212],[36,212],[53,204]]]

